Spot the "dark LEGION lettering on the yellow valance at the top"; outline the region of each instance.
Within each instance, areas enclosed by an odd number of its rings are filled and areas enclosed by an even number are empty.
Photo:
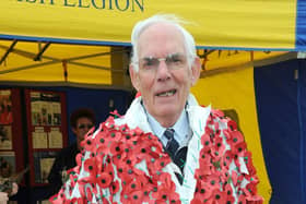
[[[144,11],[143,0],[16,0],[19,2],[61,5],[69,8],[93,8],[98,10]]]

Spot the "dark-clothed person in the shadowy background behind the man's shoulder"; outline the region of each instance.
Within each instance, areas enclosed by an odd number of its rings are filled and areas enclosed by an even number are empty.
[[[81,142],[84,135],[95,125],[95,115],[89,108],[74,110],[70,116],[70,127],[76,141],[68,147],[62,148],[56,157],[48,176],[49,192],[48,196],[59,191],[67,179],[67,170],[76,166],[75,156],[81,152]]]

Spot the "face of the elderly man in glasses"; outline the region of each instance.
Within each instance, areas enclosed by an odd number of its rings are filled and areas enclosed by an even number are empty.
[[[165,23],[148,27],[138,45],[139,71],[130,68],[132,84],[141,92],[146,110],[163,127],[170,127],[199,76],[199,59],[188,68],[183,34]]]

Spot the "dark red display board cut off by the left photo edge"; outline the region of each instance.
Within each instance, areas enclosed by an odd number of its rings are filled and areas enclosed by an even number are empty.
[[[0,88],[0,183],[9,179],[21,182],[25,169],[21,95],[16,88]],[[3,181],[3,182],[2,182]]]

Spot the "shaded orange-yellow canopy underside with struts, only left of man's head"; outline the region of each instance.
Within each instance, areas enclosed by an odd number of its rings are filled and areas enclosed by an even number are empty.
[[[10,51],[12,45],[14,48]],[[121,47],[0,40],[0,56],[3,59],[0,82],[116,85],[111,75],[123,76],[126,69],[114,65],[114,62],[111,65],[111,60],[122,53],[126,53],[126,49]],[[123,85],[123,81],[120,85]]]

